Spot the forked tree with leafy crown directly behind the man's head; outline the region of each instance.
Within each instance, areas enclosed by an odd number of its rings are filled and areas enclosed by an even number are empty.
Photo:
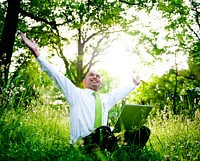
[[[20,9],[23,19],[29,17],[39,22],[29,32],[37,32],[34,37],[40,45],[52,47],[53,52],[63,60],[66,75],[77,86],[81,86],[86,73],[98,62],[99,54],[110,45],[106,40],[113,33],[112,26],[124,26],[127,23],[122,16],[123,12],[122,4],[103,0],[54,3],[34,0],[22,5]],[[64,53],[64,47],[69,43],[69,36],[66,34],[68,31],[74,32],[70,42],[77,42],[74,60],[70,60]]]

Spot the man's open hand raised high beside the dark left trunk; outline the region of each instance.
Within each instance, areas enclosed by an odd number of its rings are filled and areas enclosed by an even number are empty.
[[[29,40],[24,33],[20,32],[19,34],[26,46],[33,52],[34,56],[37,58],[40,53],[38,52],[38,46],[36,45],[36,43],[33,40]]]

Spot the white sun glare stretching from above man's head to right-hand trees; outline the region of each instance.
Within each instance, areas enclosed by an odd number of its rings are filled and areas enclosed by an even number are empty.
[[[187,69],[187,56],[177,54],[176,62],[174,55],[162,55],[156,60],[145,51],[137,55],[133,52],[131,39],[124,36],[116,40],[110,48],[105,51],[97,69],[104,69],[112,77],[119,80],[123,86],[132,82],[132,77],[139,76],[141,80],[147,81],[151,76],[162,76],[176,63],[178,69]]]

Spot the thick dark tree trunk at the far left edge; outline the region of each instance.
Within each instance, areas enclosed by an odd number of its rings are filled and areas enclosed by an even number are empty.
[[[0,95],[8,83],[20,2],[21,0],[8,0],[7,14],[0,41]]]

